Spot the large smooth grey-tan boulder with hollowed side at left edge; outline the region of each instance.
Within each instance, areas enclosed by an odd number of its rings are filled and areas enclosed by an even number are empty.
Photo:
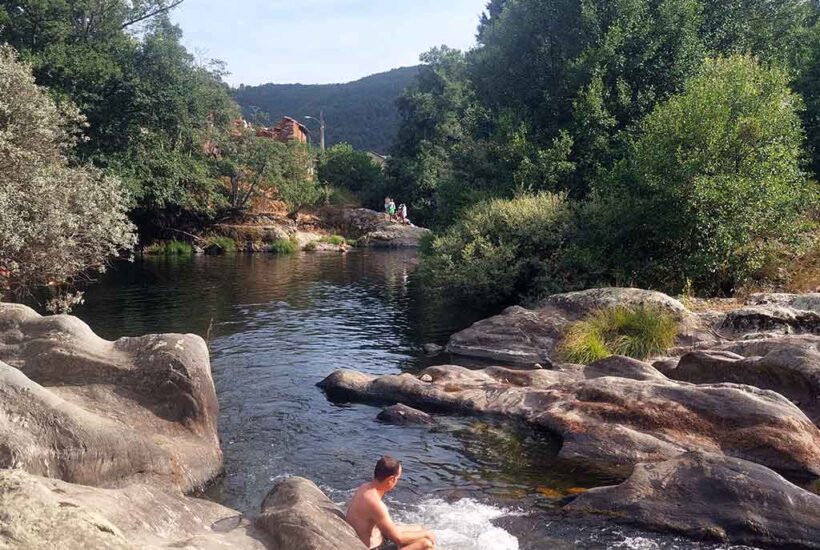
[[[200,337],[109,342],[75,317],[0,303],[0,467],[190,491],[222,470],[217,415]]]

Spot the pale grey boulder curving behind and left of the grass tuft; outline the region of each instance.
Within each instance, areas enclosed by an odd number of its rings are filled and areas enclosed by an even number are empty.
[[[556,347],[570,323],[612,307],[648,307],[670,313],[680,323],[681,345],[715,341],[683,304],[666,294],[637,288],[595,288],[556,294],[532,309],[507,308],[454,334],[447,351],[504,364],[550,363],[556,360]]]

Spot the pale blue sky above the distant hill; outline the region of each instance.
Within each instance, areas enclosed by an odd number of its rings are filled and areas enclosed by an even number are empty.
[[[185,0],[189,50],[228,64],[233,85],[348,82],[447,44],[475,42],[486,0]]]

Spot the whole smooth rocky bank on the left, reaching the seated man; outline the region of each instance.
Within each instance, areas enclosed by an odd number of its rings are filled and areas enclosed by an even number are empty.
[[[256,518],[190,494],[222,471],[208,349],[96,336],[0,303],[0,547],[360,549],[307,480]]]

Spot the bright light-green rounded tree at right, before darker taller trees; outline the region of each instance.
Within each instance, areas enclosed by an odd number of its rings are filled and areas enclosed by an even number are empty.
[[[818,201],[801,169],[801,100],[750,56],[707,60],[639,126],[599,183],[601,233],[634,282],[730,292],[790,246]]]

